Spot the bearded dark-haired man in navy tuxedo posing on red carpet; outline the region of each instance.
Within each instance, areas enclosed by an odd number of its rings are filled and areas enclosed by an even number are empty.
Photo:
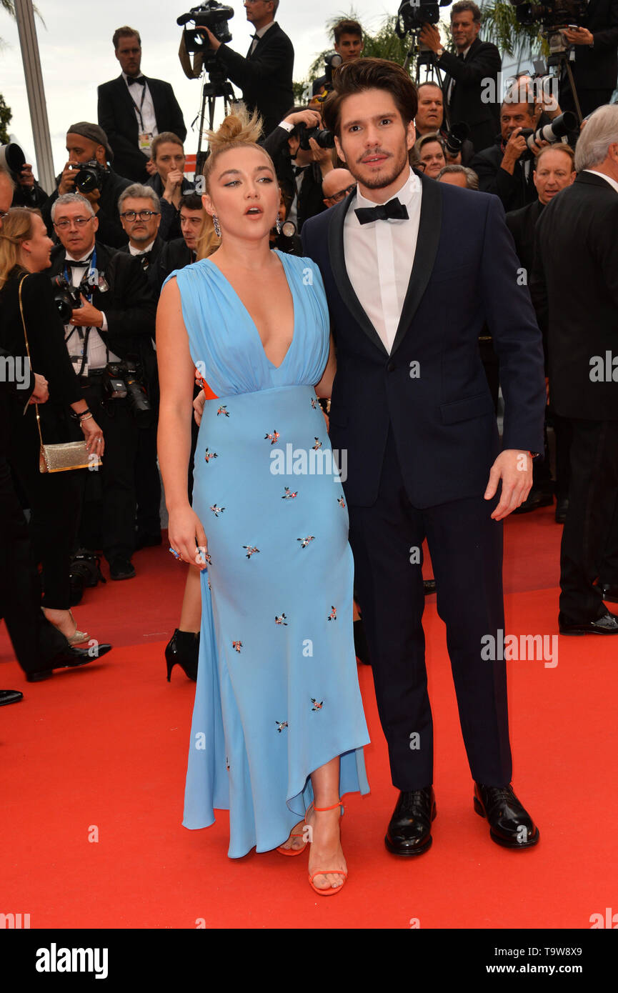
[[[541,333],[498,198],[410,169],[416,89],[407,73],[360,59],[334,83],[323,118],[358,189],[307,220],[302,239],[329,301],[330,435],[348,456],[356,586],[400,790],[386,848],[426,851],[435,816],[425,537],[474,807],[498,844],[529,848],[539,829],[511,785],[501,521],[528,496],[541,452]],[[502,451],[478,349],[485,321],[500,358]]]

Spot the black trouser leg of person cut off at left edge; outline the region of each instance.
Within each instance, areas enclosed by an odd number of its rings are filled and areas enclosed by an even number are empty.
[[[24,511],[15,495],[8,463],[0,458],[0,618],[25,672],[43,669],[69,642],[46,621],[41,584]]]

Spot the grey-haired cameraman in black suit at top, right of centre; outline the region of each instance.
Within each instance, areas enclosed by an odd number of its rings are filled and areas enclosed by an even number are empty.
[[[498,130],[498,78],[502,67],[500,52],[491,42],[481,42],[481,11],[471,0],[462,0],[451,7],[451,33],[457,55],[445,52],[440,33],[432,24],[425,24],[419,41],[436,56],[436,66],[447,75],[444,80],[449,127],[465,122],[470,128],[470,141],[475,152],[493,144]],[[486,100],[488,82],[493,83],[491,99]]]

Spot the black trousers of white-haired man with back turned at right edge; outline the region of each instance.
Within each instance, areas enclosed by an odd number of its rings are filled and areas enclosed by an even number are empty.
[[[571,419],[568,510],[560,546],[560,621],[607,613],[592,585],[611,547],[618,499],[618,421]]]

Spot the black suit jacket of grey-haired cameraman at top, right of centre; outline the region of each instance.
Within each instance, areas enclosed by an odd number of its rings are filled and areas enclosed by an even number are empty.
[[[481,42],[476,38],[465,59],[459,59],[451,52],[443,52],[441,58],[436,60],[436,65],[447,73],[443,92],[449,124],[465,121],[470,127],[470,141],[474,145],[475,152],[481,152],[493,144],[496,132],[500,129],[498,95],[498,73],[502,68],[500,52],[491,42]],[[454,87],[447,104],[451,79],[454,80]],[[485,80],[493,80],[495,84],[495,91],[491,94],[492,99],[488,102],[482,99]]]

